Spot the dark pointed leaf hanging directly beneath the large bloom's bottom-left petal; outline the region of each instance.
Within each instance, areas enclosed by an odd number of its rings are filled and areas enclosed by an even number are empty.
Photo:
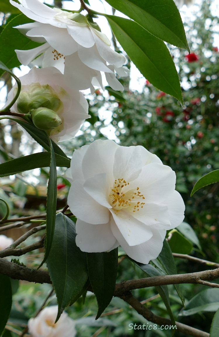
[[[118,248],[108,253],[87,253],[87,267],[98,304],[97,319],[113,298],[117,277]]]

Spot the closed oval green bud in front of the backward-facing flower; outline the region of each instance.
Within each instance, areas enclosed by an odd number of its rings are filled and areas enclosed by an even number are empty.
[[[61,118],[51,109],[38,108],[31,112],[34,125],[40,130],[52,130],[61,124]]]

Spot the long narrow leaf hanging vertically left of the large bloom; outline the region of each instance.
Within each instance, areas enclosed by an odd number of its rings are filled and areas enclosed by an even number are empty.
[[[56,173],[55,153],[49,136],[47,135],[46,132],[45,134],[48,137],[50,145],[51,161],[50,161],[48,188],[47,188],[46,236],[44,244],[44,258],[38,268],[40,268],[46,261],[47,257],[49,256],[50,249],[52,247],[53,235],[55,230],[56,200],[57,200],[57,173]]]

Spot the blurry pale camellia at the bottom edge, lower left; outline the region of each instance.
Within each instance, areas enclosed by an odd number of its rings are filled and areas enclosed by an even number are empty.
[[[44,308],[35,318],[28,321],[29,333],[33,337],[74,337],[76,335],[75,322],[63,311],[57,323],[55,319],[58,306]]]

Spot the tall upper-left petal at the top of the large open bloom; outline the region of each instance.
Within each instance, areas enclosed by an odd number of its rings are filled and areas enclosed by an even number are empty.
[[[89,145],[82,161],[85,180],[98,173],[106,173],[108,181],[113,184],[113,163],[118,147],[119,145],[111,140],[97,140]]]

